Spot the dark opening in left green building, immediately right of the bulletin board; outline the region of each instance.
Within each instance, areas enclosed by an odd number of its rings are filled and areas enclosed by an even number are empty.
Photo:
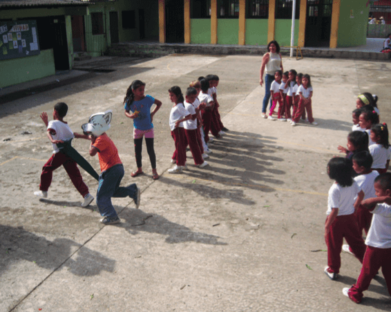
[[[56,70],[68,70],[68,42],[66,40],[65,17],[37,17],[39,47],[53,48]]]

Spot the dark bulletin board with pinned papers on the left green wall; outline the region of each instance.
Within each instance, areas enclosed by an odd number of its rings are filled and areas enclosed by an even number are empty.
[[[0,21],[0,60],[39,53],[37,21]]]

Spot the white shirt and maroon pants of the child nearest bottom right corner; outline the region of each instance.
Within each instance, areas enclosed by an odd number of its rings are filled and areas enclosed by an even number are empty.
[[[381,268],[388,293],[391,295],[391,206],[379,203],[371,211],[372,223],[365,239],[367,250],[363,259],[363,267],[356,284],[350,287],[348,295],[356,303],[360,303],[363,291]]]

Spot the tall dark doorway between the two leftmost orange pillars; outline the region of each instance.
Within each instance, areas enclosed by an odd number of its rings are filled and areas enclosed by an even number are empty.
[[[184,42],[183,0],[166,0],[166,42]]]

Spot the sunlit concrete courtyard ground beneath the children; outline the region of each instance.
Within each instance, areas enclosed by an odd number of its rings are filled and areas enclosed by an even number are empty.
[[[297,127],[260,118],[265,89],[260,57],[169,55],[113,65],[73,84],[34,93],[0,106],[0,311],[390,311],[383,275],[361,305],[341,293],[356,281],[361,265],[342,253],[333,282],[323,238],[326,164],[346,144],[355,98],[379,96],[381,122],[390,123],[389,62],[283,59],[285,69],[309,73],[318,126]],[[173,140],[167,89],[184,91],[200,75],[220,76],[220,113],[229,132],[211,143],[210,166],[171,175]],[[135,79],[162,100],[155,115],[158,181],[144,147],[144,172],[135,169],[132,122],[122,101]],[[56,102],[68,103],[74,131],[92,113],[113,110],[108,131],[126,174],[122,185],[142,189],[139,210],[114,199],[122,219],[103,226],[95,201],[82,197],[58,169],[47,200],[39,201],[41,167],[51,146],[39,118]],[[88,155],[88,142],[75,148]],[[95,194],[97,182],[82,172]]]

